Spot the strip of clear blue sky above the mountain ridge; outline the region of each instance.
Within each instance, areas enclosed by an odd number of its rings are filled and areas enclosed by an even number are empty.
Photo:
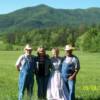
[[[100,0],[0,0],[0,14],[39,4],[46,4],[62,9],[85,9],[89,7],[100,7]]]

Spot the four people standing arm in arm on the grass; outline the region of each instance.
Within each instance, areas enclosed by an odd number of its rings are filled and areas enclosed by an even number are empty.
[[[72,53],[74,47],[65,46],[65,57],[59,56],[58,48],[52,49],[51,58],[46,54],[44,47],[37,49],[37,56],[32,55],[32,50],[27,44],[24,48],[25,53],[16,62],[19,71],[18,100],[23,99],[26,89],[28,100],[32,100],[34,75],[38,87],[38,100],[75,100],[75,82],[80,63]]]

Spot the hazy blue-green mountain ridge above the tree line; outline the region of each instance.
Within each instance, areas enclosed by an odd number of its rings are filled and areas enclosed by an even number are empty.
[[[100,8],[55,9],[38,5],[0,15],[0,33],[29,31],[56,26],[100,24]]]

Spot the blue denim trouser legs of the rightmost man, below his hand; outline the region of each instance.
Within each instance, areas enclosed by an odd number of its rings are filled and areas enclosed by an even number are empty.
[[[67,80],[66,86],[69,91],[69,100],[75,100],[75,80]]]

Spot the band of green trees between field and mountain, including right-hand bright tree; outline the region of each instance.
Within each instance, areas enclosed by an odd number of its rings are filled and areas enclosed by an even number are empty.
[[[34,48],[45,46],[50,49],[55,46],[65,46],[70,43],[80,50],[97,52],[100,51],[100,26],[92,25],[79,27],[53,27],[45,29],[33,29],[32,31],[15,31],[2,35],[4,43],[11,45],[25,45],[31,43]],[[10,45],[10,46],[11,46]]]

